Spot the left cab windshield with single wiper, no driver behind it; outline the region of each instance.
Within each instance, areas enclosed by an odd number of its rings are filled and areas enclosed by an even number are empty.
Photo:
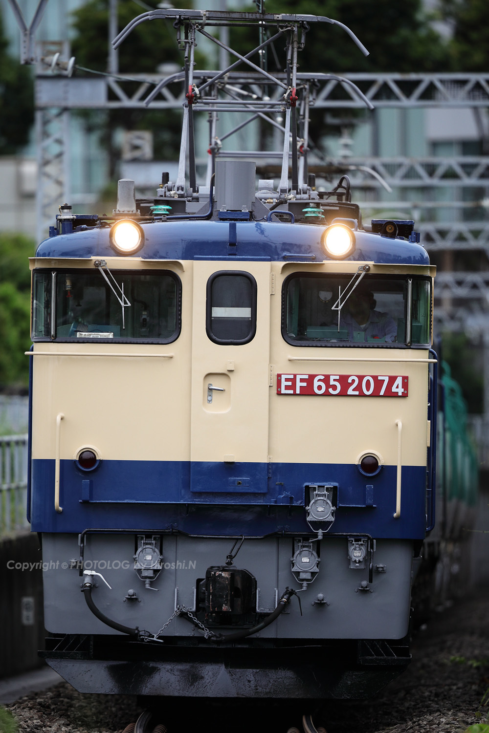
[[[32,338],[169,342],[180,331],[180,280],[169,272],[34,270]],[[123,293],[123,295],[122,295]],[[122,307],[123,304],[123,307]]]

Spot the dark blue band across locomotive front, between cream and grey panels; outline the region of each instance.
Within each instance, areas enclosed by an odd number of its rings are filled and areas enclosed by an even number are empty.
[[[202,486],[192,485],[191,469]],[[271,474],[267,476],[267,471]],[[305,532],[304,485],[337,483],[332,532],[422,539],[426,526],[426,467],[402,468],[400,519],[394,519],[396,467],[361,476],[356,465],[318,463],[200,463],[103,460],[96,471],[60,462],[60,503],[54,510],[54,460],[32,462],[32,530],[81,532],[87,527],[179,529],[188,534]],[[204,485],[205,477],[207,483]],[[244,487],[229,486],[241,476]],[[242,480],[241,479],[241,480]],[[262,490],[264,479],[266,490]],[[204,490],[202,490],[204,488]]]

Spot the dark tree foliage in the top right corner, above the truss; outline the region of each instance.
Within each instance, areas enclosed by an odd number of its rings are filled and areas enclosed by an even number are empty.
[[[457,71],[489,68],[489,12],[486,0],[443,0],[443,15],[453,26],[449,43]]]

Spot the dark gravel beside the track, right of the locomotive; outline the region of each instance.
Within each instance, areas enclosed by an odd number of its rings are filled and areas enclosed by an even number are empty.
[[[457,733],[485,722],[488,620],[487,593],[436,614],[416,634],[407,670],[374,701],[335,703],[328,733]]]

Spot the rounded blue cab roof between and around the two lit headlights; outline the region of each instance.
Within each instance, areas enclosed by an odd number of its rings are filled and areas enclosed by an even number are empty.
[[[139,259],[232,259],[287,262],[328,260],[320,245],[323,226],[266,221],[155,221],[141,224],[145,242]],[[235,254],[229,254],[229,226],[236,227]],[[37,257],[114,257],[109,227],[56,235],[40,243]],[[348,259],[379,264],[429,265],[427,251],[406,240],[355,232],[356,248]],[[313,258],[312,255],[315,257]]]

